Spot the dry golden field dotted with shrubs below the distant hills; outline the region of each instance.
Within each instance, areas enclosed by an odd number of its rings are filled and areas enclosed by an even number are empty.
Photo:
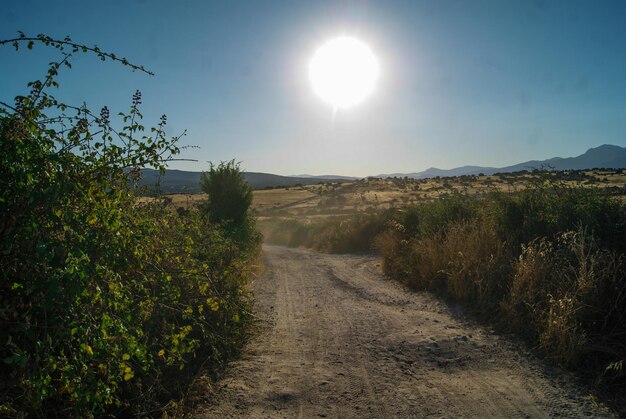
[[[519,172],[422,180],[368,178],[344,183],[261,189],[254,191],[252,208],[259,221],[290,218],[312,221],[446,199],[458,194],[481,196],[493,191],[515,192],[546,179],[566,186],[605,188],[626,200],[626,173],[623,170],[586,170],[554,173]],[[177,208],[187,208],[206,199],[205,194],[167,196]]]

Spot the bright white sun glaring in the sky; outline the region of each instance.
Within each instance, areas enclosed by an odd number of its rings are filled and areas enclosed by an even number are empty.
[[[347,36],[322,45],[309,65],[313,91],[334,109],[362,102],[374,91],[378,73],[378,60],[370,48]]]

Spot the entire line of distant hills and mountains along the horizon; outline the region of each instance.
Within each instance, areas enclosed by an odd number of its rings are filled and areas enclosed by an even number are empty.
[[[413,179],[424,179],[429,177],[463,176],[463,175],[492,175],[494,173],[511,173],[522,170],[544,169],[544,170],[582,170],[593,168],[626,168],[626,147],[616,145],[601,145],[590,148],[585,153],[576,157],[553,157],[547,160],[530,160],[506,167],[483,167],[483,166],[462,166],[454,169],[438,169],[431,167],[422,172],[414,173],[391,173],[380,174],[375,177],[409,177]],[[142,179],[140,186],[154,186],[160,183],[160,188],[166,193],[197,193],[200,190],[201,172],[188,172],[184,170],[168,170],[160,176],[159,172],[153,169],[142,169]],[[298,175],[280,176],[270,173],[244,172],[244,177],[254,189],[268,187],[286,187],[294,185],[311,185],[320,182],[345,182],[358,178],[339,175]],[[159,182],[160,180],[160,182]]]

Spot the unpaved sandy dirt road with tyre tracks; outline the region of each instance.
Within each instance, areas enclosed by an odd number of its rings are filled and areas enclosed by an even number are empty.
[[[611,417],[459,310],[368,256],[265,246],[267,320],[194,417]]]

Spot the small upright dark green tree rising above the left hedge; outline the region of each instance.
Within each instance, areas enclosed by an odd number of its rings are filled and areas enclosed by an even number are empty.
[[[205,212],[212,223],[241,224],[252,203],[252,188],[235,160],[211,163],[200,178],[202,190],[209,195]]]

